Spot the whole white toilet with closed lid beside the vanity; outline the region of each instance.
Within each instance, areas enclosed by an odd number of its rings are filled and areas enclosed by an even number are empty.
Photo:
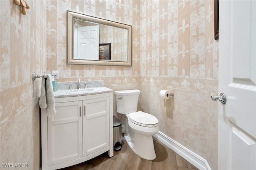
[[[116,111],[126,115],[124,138],[138,156],[154,160],[156,153],[152,135],[159,130],[158,119],[137,111],[140,90],[115,91]]]

